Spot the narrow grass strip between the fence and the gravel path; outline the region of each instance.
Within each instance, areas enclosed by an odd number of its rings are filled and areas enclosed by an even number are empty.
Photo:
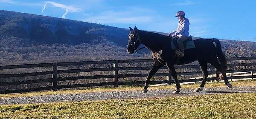
[[[244,80],[244,81],[236,81],[231,82],[233,86],[256,86],[256,80]],[[192,85],[181,85],[181,88],[197,88],[200,84],[192,84]],[[207,87],[223,87],[226,86],[224,82],[213,82],[207,83],[204,88]],[[154,89],[174,89],[175,85],[166,85],[166,86],[158,86],[158,87],[149,87],[149,90]],[[67,91],[40,91],[40,92],[29,92],[29,93],[17,93],[17,94],[2,94],[0,98],[9,98],[9,97],[20,97],[20,96],[40,96],[40,95],[50,95],[50,94],[78,94],[85,92],[106,92],[106,91],[142,91],[142,87],[140,86],[123,86],[119,88],[93,88],[86,90],[67,90]]]

